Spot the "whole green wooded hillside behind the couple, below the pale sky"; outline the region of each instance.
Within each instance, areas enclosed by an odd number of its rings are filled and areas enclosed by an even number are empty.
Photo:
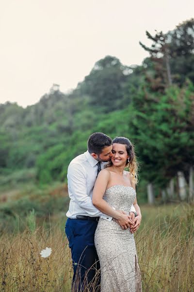
[[[108,55],[69,94],[54,84],[26,109],[0,105],[2,190],[65,182],[69,162],[102,131],[135,145],[142,201],[194,201],[194,19],[146,35],[141,66]]]

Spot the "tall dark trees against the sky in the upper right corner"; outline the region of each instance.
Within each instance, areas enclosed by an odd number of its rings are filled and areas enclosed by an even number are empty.
[[[183,86],[187,78],[194,82],[194,18],[166,34],[152,36],[146,31],[146,36],[151,47],[140,45],[150,53],[153,63],[152,75],[146,72],[153,91],[164,92],[172,83]]]

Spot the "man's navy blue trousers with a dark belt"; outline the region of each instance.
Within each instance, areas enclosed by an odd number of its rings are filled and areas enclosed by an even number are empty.
[[[97,221],[68,218],[65,233],[69,241],[73,262],[72,291],[100,291],[100,265],[94,244]]]

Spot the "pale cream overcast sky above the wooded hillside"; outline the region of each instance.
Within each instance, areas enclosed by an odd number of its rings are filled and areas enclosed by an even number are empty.
[[[0,103],[32,105],[53,83],[76,88],[106,55],[141,64],[146,30],[192,17],[194,0],[0,0]]]

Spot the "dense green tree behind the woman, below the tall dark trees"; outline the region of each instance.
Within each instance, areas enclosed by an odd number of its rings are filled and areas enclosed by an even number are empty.
[[[131,103],[129,129],[150,183],[166,187],[194,165],[194,85],[169,87],[165,94],[141,87]]]

